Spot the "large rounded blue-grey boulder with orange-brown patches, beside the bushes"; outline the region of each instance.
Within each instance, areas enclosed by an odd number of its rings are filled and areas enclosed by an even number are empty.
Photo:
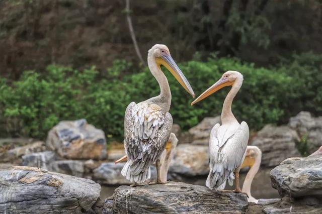
[[[46,144],[64,158],[106,158],[104,132],[88,124],[85,119],[58,123],[49,131]]]

